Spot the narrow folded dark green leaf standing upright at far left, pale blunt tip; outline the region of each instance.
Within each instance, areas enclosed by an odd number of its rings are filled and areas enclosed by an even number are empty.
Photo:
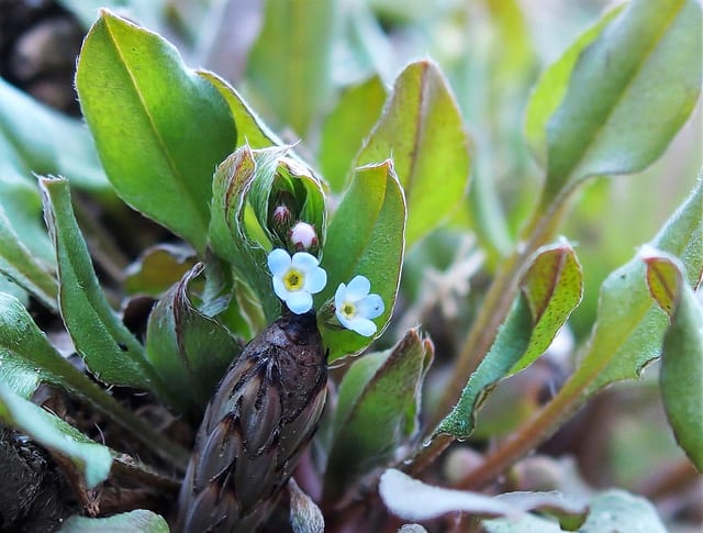
[[[70,204],[68,181],[41,178],[58,263],[59,306],[76,349],[102,381],[165,393],[144,347],[118,319],[98,284]]]

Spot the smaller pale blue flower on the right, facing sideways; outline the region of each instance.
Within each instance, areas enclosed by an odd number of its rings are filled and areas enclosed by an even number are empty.
[[[383,313],[386,307],[378,295],[369,295],[371,282],[365,276],[356,276],[348,286],[339,284],[334,295],[335,314],[342,325],[359,335],[371,336],[378,329],[371,319]]]

